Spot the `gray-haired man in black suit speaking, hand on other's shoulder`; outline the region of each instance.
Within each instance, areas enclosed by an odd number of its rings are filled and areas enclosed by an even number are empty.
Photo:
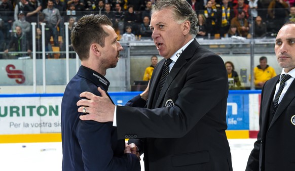
[[[128,102],[136,107],[115,106],[101,89],[102,97],[85,92],[80,96],[90,100],[77,103],[80,112],[88,106],[90,114],[82,120],[114,120],[119,139],[140,138],[130,143],[144,152],[146,171],[232,170],[225,133],[227,70],[218,55],[194,39],[197,23],[185,0],[158,0],[153,6],[152,38],[165,59],[153,71],[146,108],[139,95]],[[161,77],[167,73],[165,81]]]

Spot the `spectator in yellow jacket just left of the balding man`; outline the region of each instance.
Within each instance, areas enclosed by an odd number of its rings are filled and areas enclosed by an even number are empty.
[[[259,59],[259,63],[260,65],[257,65],[253,71],[255,89],[262,89],[267,80],[277,75],[275,69],[267,64],[265,56]],[[249,80],[251,80],[250,78]]]

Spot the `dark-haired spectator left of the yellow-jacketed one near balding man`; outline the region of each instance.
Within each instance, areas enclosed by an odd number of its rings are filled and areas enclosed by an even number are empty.
[[[227,71],[228,71],[228,77],[233,78],[234,82],[233,84],[229,85],[229,90],[237,90],[241,87],[241,82],[238,73],[235,71],[235,66],[231,61],[227,61],[225,63]],[[230,82],[230,81],[229,81]]]

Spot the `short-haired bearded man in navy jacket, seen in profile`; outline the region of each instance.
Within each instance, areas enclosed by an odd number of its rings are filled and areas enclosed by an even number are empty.
[[[76,105],[83,91],[97,96],[100,96],[97,87],[107,91],[106,69],[116,67],[123,50],[117,38],[112,22],[105,15],[84,16],[71,31],[72,46],[82,66],[67,84],[61,103],[63,171],[140,171],[139,159],[130,153],[128,145],[125,147],[124,138],[117,139],[113,123],[80,120]]]

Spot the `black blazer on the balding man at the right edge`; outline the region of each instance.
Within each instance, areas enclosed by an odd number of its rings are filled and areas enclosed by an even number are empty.
[[[260,131],[248,159],[247,171],[295,170],[295,81],[279,103],[270,126],[267,126],[279,78],[277,75],[268,80],[262,89]]]

